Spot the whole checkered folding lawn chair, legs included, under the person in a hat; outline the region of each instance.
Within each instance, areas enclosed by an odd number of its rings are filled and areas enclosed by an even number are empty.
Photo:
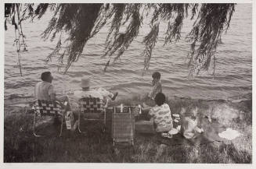
[[[102,99],[95,97],[85,97],[79,100],[79,114],[78,114],[78,131],[81,132],[81,114],[85,121],[103,121],[103,132],[106,129],[106,104]]]

